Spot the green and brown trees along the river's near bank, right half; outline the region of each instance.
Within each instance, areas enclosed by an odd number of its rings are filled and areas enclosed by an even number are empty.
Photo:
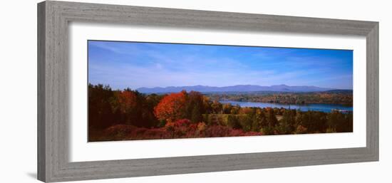
[[[226,105],[226,106],[225,106]],[[225,104],[224,108],[227,107]],[[238,106],[232,106],[237,110]],[[225,112],[225,110],[223,110]],[[239,113],[204,115],[207,124],[219,124],[262,132],[263,135],[287,135],[324,132],[352,132],[352,113],[288,110],[284,108],[239,108]]]

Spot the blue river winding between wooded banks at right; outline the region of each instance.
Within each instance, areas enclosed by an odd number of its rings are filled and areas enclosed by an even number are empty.
[[[314,104],[281,104],[281,103],[251,103],[251,102],[237,102],[230,100],[222,100],[220,103],[231,103],[232,105],[239,105],[241,107],[259,107],[259,108],[287,108],[287,109],[296,109],[301,111],[322,111],[324,113],[331,113],[331,110],[345,110],[345,111],[353,111],[353,107],[348,107],[345,105],[339,104],[322,104],[322,103],[314,103]]]

